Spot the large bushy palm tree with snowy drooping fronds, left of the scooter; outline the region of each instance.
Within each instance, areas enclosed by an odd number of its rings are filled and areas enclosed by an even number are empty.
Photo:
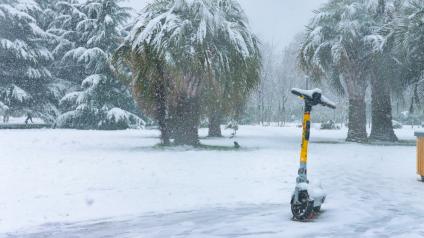
[[[257,45],[235,0],[155,0],[118,49],[115,65],[131,69],[134,95],[157,119],[162,143],[174,135],[175,144],[197,145],[205,88],[243,84],[225,75],[247,71],[259,58]]]

